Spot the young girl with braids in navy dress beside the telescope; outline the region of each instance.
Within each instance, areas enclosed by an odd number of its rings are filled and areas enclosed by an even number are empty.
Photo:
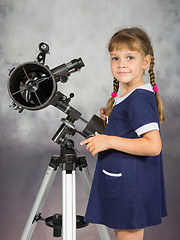
[[[108,123],[103,135],[81,142],[93,156],[98,153],[85,220],[115,229],[118,240],[142,240],[144,228],[167,215],[154,53],[139,28],[115,33],[108,50],[114,90],[101,109]],[[148,68],[151,84],[143,80]]]

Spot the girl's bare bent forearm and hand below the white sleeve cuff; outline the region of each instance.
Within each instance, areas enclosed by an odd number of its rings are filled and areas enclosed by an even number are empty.
[[[80,144],[87,144],[86,148],[93,156],[98,152],[108,149],[115,149],[133,155],[156,156],[160,154],[162,148],[161,137],[158,130],[144,133],[142,137],[137,139],[96,133],[94,137],[88,138]]]

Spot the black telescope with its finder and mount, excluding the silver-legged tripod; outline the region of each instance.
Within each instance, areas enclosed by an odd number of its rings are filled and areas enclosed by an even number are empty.
[[[78,132],[85,138],[93,136],[96,131],[103,133],[104,122],[101,118],[94,115],[88,122],[81,117],[78,110],[69,105],[74,94],[71,93],[67,97],[58,91],[57,83],[66,83],[72,73],[81,70],[85,66],[83,60],[81,58],[73,59],[68,63],[49,69],[45,65],[46,54],[49,54],[49,45],[45,42],[40,43],[39,51],[35,61],[25,62],[10,70],[7,86],[13,100],[10,106],[21,113],[24,109],[37,111],[53,105],[66,113],[67,118],[62,119],[63,125],[53,137],[53,141],[58,144],[67,133],[74,135],[75,132]],[[74,122],[78,119],[87,124],[83,131],[77,130],[74,126]]]

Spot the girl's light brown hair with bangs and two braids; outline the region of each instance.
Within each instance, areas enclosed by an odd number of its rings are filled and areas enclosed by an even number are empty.
[[[112,52],[113,50],[121,50],[124,46],[128,47],[131,51],[138,51],[143,56],[150,55],[151,62],[149,66],[149,76],[150,76],[150,83],[152,86],[156,85],[155,82],[155,74],[154,74],[154,51],[151,45],[151,41],[148,35],[139,28],[127,28],[116,32],[109,44],[108,50]],[[113,92],[117,93],[119,90],[119,81],[114,79],[113,81]],[[159,122],[164,121],[164,111],[163,111],[163,104],[159,92],[155,93],[157,107],[158,107],[158,115],[159,115]],[[106,106],[106,115],[109,116],[112,109],[113,109],[113,102],[114,97],[111,97],[108,100]]]

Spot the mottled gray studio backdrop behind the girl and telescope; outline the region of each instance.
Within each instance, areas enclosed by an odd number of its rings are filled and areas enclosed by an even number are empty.
[[[70,77],[59,90],[75,93],[71,105],[90,120],[99,114],[112,90],[107,43],[119,28],[138,26],[152,38],[155,72],[164,102],[162,124],[164,170],[168,217],[159,226],[146,229],[145,240],[178,240],[179,195],[179,0],[1,0],[0,1],[0,238],[18,240],[47,169],[50,156],[59,153],[51,138],[65,114],[53,106],[19,114],[8,107],[8,69],[34,60],[38,44],[48,42],[50,68],[82,57],[86,67]],[[82,123],[77,122],[81,128]],[[93,174],[96,159],[79,145]],[[77,171],[77,212],[84,215],[87,198]],[[61,173],[58,172],[43,216],[61,212]],[[111,231],[112,239],[115,239]],[[54,239],[52,230],[38,222],[33,240]],[[96,226],[77,231],[77,239],[97,240]]]

